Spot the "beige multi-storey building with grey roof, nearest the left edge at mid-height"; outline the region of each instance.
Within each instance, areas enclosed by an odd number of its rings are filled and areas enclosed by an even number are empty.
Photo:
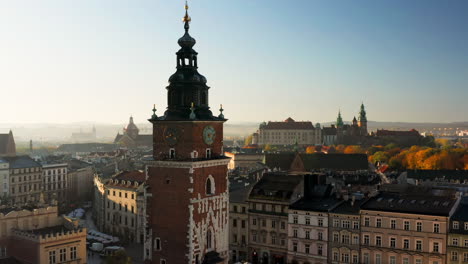
[[[29,156],[3,157],[3,160],[10,165],[11,202],[39,202],[42,191],[42,165]]]

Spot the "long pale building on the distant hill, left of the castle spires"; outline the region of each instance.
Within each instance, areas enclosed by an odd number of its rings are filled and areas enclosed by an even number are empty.
[[[284,122],[262,123],[255,135],[259,145],[316,145],[322,142],[321,129],[315,128],[310,121],[294,121],[292,118]]]

